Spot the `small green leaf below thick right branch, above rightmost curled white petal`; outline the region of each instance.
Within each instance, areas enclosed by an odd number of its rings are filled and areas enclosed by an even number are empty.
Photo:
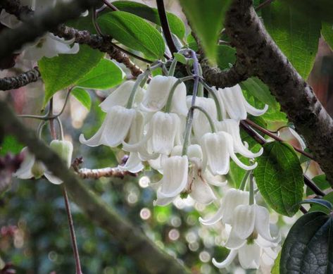
[[[248,78],[247,80],[241,82],[239,85],[241,85],[242,89],[245,89],[251,95],[255,96],[259,101],[268,104],[268,106],[272,108],[277,108],[278,105],[275,97],[270,94],[270,89],[268,89],[268,86],[261,82],[258,77]]]

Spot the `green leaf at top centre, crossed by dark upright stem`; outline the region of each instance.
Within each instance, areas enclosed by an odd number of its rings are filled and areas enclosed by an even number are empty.
[[[113,1],[112,4],[119,8],[120,11],[133,13],[157,25],[161,25],[157,8],[151,8],[150,6],[133,1]],[[180,39],[183,39],[185,36],[185,26],[182,20],[173,13],[167,13],[167,18],[171,32]]]

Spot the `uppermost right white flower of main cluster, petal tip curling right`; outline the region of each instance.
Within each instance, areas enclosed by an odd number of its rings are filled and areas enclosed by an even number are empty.
[[[265,105],[263,109],[251,106],[244,98],[239,85],[218,89],[216,94],[220,104],[225,107],[228,116],[234,120],[246,119],[247,113],[253,116],[260,116],[268,110],[268,105]]]

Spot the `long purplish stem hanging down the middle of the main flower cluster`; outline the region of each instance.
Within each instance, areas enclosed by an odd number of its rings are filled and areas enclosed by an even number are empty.
[[[196,58],[195,51],[188,49],[188,51],[191,54],[191,58],[193,58],[193,69],[194,69],[194,85],[193,85],[193,92],[192,92],[192,101],[191,106],[194,106],[196,104],[196,94],[198,93],[198,85],[199,85],[199,61],[198,58]],[[187,113],[186,118],[186,128],[185,128],[185,137],[184,137],[184,144],[182,148],[182,155],[187,154],[187,147],[189,147],[189,135],[191,134],[191,128],[193,123],[193,113],[194,108],[189,108],[189,112]]]

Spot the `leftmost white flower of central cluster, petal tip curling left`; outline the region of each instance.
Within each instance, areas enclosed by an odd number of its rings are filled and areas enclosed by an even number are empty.
[[[80,142],[89,147],[97,147],[104,144],[109,147],[117,147],[127,137],[132,121],[136,116],[134,109],[124,108],[123,106],[113,106],[106,114],[103,124],[90,139],[85,139],[80,135]]]

